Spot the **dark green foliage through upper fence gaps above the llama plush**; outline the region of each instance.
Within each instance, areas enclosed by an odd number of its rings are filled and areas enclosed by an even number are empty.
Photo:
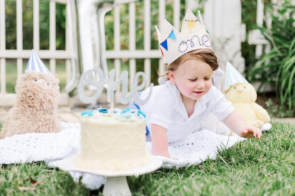
[[[30,50],[33,48],[33,1],[22,0],[22,23],[23,23],[23,48]],[[39,36],[40,49],[49,49],[49,1],[40,0],[39,2]],[[56,49],[65,50],[65,4],[55,4],[56,19]],[[17,49],[16,33],[16,0],[5,1],[5,38],[6,49]]]

